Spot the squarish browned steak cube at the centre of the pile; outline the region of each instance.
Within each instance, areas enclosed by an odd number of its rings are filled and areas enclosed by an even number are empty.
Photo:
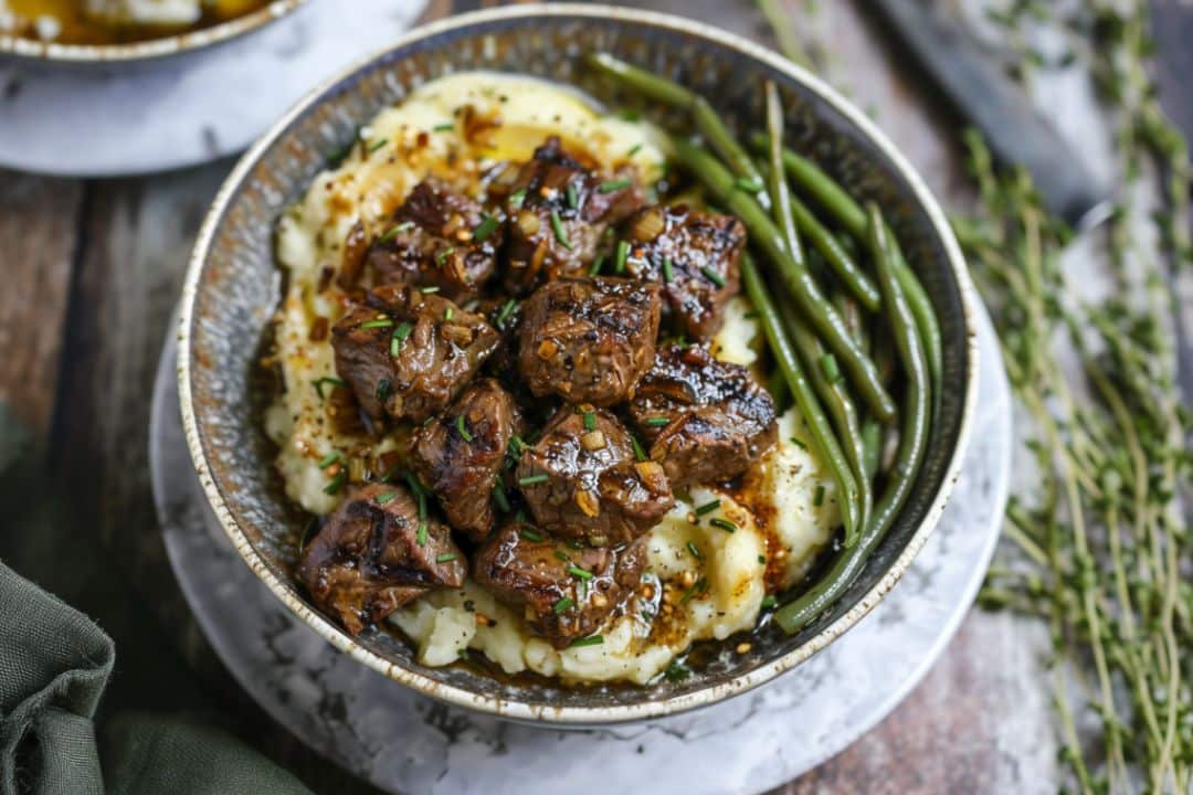
[[[626,399],[655,355],[659,285],[628,279],[558,279],[523,304],[518,367],[534,395],[613,405]]]

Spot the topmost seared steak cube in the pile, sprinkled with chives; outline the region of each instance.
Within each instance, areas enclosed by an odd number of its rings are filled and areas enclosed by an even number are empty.
[[[548,138],[506,199],[506,288],[525,294],[545,280],[586,273],[605,230],[642,201],[632,179],[602,179],[563,151],[557,137]]]

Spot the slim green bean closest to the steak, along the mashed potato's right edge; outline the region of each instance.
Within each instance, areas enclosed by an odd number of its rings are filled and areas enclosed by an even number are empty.
[[[858,523],[858,483],[849,471],[849,464],[841,452],[841,446],[833,435],[833,428],[828,417],[821,409],[820,400],[812,391],[808,375],[804,373],[799,358],[791,347],[791,340],[783,330],[783,319],[771,299],[767,285],[759,275],[758,267],[749,254],[743,254],[741,259],[742,284],[746,286],[746,294],[758,311],[762,323],[762,331],[766,335],[767,344],[774,355],[775,362],[787,379],[787,387],[795,399],[796,408],[808,424],[816,454],[833,474],[833,480],[837,487],[837,504],[841,508],[841,521],[845,524],[846,538],[855,538],[859,533]]]

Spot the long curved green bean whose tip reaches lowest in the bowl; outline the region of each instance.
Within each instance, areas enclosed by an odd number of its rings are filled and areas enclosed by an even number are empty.
[[[911,315],[902,285],[895,275],[894,250],[886,235],[886,224],[878,209],[870,206],[867,238],[874,257],[878,286],[895,337],[895,347],[903,365],[907,384],[898,453],[882,498],[874,504],[853,548],[840,554],[824,576],[808,592],[784,604],[774,621],[784,632],[796,633],[808,626],[843,594],[861,573],[870,553],[882,541],[895,516],[903,508],[923,462],[928,442],[928,415],[932,403],[931,375],[927,354],[920,331]]]

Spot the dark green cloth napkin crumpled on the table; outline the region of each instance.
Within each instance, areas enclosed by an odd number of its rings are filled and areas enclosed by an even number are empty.
[[[0,794],[309,793],[222,731],[95,708],[116,662],[87,616],[0,563]]]

